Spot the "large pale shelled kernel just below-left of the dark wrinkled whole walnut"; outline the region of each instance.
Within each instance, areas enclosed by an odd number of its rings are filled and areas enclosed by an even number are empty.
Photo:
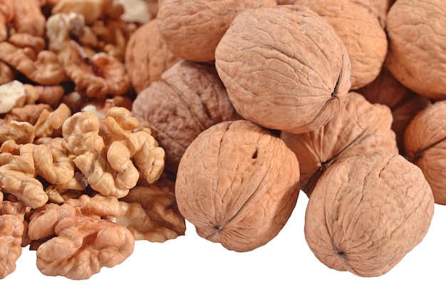
[[[102,120],[75,113],[62,132],[78,170],[105,196],[125,197],[140,177],[152,183],[164,169],[164,150],[125,108],[110,108]]]

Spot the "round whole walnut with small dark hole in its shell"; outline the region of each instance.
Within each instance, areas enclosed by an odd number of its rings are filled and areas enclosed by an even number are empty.
[[[178,209],[197,234],[251,251],[279,234],[299,195],[299,162],[279,137],[247,120],[202,132],[183,155]]]

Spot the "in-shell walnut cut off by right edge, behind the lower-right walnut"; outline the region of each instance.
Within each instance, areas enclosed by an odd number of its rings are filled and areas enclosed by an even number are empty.
[[[421,168],[435,202],[446,204],[446,101],[438,101],[415,115],[405,130],[408,160]]]

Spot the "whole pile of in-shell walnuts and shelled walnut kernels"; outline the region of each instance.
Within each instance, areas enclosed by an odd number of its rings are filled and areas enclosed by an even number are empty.
[[[89,278],[185,220],[251,251],[300,192],[317,259],[387,273],[446,204],[445,24],[441,0],[0,0],[0,278],[26,246]]]

